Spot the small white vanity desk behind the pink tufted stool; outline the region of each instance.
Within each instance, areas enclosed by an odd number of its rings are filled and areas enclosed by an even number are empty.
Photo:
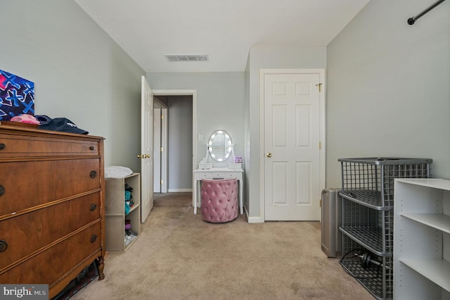
[[[197,213],[197,204],[200,203],[200,193],[198,188],[200,182],[203,179],[226,179],[236,177],[239,182],[239,207],[240,214],[244,213],[243,209],[243,169],[231,169],[231,168],[211,168],[207,170],[197,169],[193,170],[193,206],[194,213]],[[200,188],[201,191],[201,188]]]

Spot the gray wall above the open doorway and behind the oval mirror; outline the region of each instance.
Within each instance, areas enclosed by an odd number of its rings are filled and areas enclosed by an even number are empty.
[[[203,142],[198,137],[195,141],[197,163],[215,130],[228,132],[236,144],[236,156],[244,156],[244,73],[147,73],[146,77],[152,89],[197,91],[197,133],[203,135]]]

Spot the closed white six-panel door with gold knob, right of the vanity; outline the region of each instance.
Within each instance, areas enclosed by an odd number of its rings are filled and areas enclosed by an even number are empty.
[[[265,220],[320,220],[319,74],[264,74]]]

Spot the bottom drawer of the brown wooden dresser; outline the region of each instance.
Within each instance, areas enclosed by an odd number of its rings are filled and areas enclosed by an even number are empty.
[[[80,262],[98,253],[101,256],[101,222],[87,227],[7,272],[2,284],[56,284]]]

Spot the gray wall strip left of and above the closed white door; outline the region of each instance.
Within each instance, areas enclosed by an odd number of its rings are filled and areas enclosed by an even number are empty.
[[[248,104],[246,104],[246,120],[248,124],[248,140],[246,140],[245,157],[245,202],[248,208],[250,222],[259,222],[264,217],[261,211],[262,195],[259,164],[262,149],[259,145],[260,137],[260,69],[295,69],[295,68],[326,68],[326,47],[297,47],[297,48],[259,48],[250,49],[248,65],[245,69],[246,85],[248,85]],[[247,93],[246,93],[247,94]],[[248,105],[248,106],[247,106]],[[248,107],[248,108],[247,108]],[[250,139],[250,140],[249,140]]]

